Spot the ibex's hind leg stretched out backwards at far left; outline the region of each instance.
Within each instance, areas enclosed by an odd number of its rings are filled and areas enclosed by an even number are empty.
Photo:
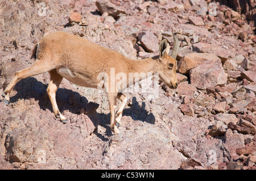
[[[9,86],[6,87],[5,91],[3,91],[2,96],[4,96],[4,100],[6,103],[10,102],[10,92],[13,90],[13,87],[19,82],[21,79],[32,77],[34,75],[45,73],[51,70],[51,65],[47,64],[43,60],[36,60],[33,65],[29,68],[17,71],[14,75],[14,78],[11,80]]]

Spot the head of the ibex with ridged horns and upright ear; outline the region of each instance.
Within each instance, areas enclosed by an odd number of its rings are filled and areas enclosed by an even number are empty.
[[[174,37],[174,48],[172,49],[171,55],[169,55],[170,45],[167,43],[167,40],[164,39],[159,44],[159,78],[170,88],[177,88],[177,49],[179,48],[179,40],[172,33]]]

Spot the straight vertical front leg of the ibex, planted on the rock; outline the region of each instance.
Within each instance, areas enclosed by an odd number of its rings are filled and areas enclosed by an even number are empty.
[[[117,99],[117,94],[115,93],[108,93],[109,99],[109,109],[110,109],[110,127],[114,134],[118,134],[119,130],[117,128],[117,121],[115,120],[115,104]]]

